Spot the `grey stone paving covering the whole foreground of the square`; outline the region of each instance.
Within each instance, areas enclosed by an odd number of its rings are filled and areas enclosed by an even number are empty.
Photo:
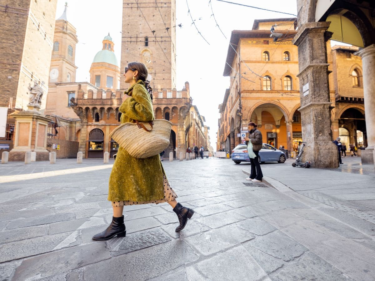
[[[359,158],[265,163],[261,184],[247,163],[164,161],[195,210],[186,228],[167,203],[126,206],[126,237],[92,241],[112,218],[111,161],[0,166],[0,280],[374,280],[375,176]]]

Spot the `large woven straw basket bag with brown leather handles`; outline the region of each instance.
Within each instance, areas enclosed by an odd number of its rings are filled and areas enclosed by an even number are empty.
[[[150,128],[150,129],[147,129]],[[156,119],[150,122],[124,123],[112,131],[114,139],[130,156],[147,158],[159,154],[169,145],[172,122]]]

